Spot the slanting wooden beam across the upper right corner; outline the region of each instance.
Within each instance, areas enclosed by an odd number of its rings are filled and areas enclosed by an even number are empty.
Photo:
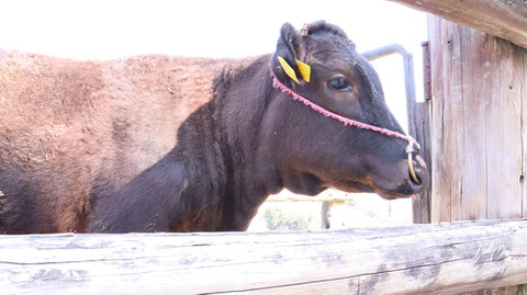
[[[527,48],[525,0],[391,0],[471,26]]]

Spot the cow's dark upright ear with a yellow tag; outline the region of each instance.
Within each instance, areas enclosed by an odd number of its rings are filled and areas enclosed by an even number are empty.
[[[299,34],[290,23],[284,23],[280,30],[277,52],[272,57],[272,71],[279,80],[299,83],[301,72],[296,64],[299,54]]]

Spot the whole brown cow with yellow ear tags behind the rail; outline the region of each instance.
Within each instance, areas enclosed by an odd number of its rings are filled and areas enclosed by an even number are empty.
[[[402,132],[372,67],[325,22],[284,24],[273,55],[247,59],[0,50],[0,232],[244,230],[283,188],[424,190],[405,140],[314,112],[273,75],[325,110]]]

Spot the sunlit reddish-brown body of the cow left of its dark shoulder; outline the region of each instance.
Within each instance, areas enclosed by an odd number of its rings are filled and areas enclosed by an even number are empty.
[[[177,145],[221,61],[0,52],[0,231],[85,231],[93,198]]]

